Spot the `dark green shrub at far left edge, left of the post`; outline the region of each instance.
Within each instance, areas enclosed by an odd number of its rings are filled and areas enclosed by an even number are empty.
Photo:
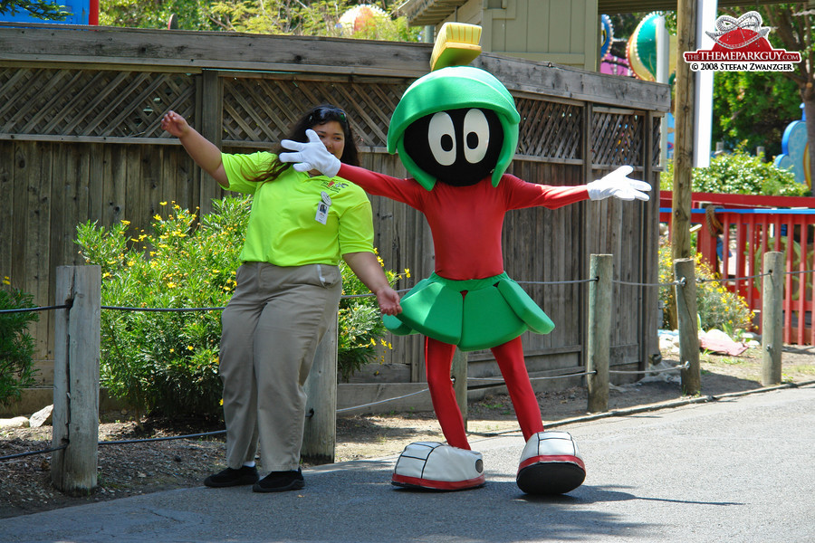
[[[8,277],[0,287],[0,310],[19,310],[34,307],[34,297],[12,289]],[[0,405],[9,405],[20,399],[20,392],[34,386],[34,339],[28,334],[28,325],[39,319],[33,311],[0,314]]]

